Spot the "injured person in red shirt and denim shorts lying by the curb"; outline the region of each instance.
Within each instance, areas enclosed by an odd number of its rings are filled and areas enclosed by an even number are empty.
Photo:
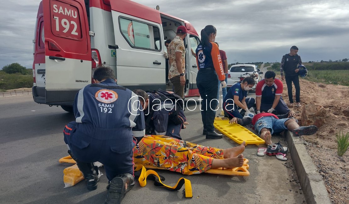
[[[272,134],[279,134],[289,130],[293,132],[294,136],[301,136],[312,135],[318,131],[318,127],[314,125],[300,127],[297,119],[293,118],[293,116],[295,116],[295,112],[292,110],[284,115],[262,112],[253,116],[253,118],[232,118],[229,123],[237,123],[242,126],[254,125],[254,130],[258,131],[260,138],[265,141],[269,149],[273,149],[275,153],[281,152],[284,154],[287,152],[287,148],[284,150],[280,143],[274,144],[272,142]]]

